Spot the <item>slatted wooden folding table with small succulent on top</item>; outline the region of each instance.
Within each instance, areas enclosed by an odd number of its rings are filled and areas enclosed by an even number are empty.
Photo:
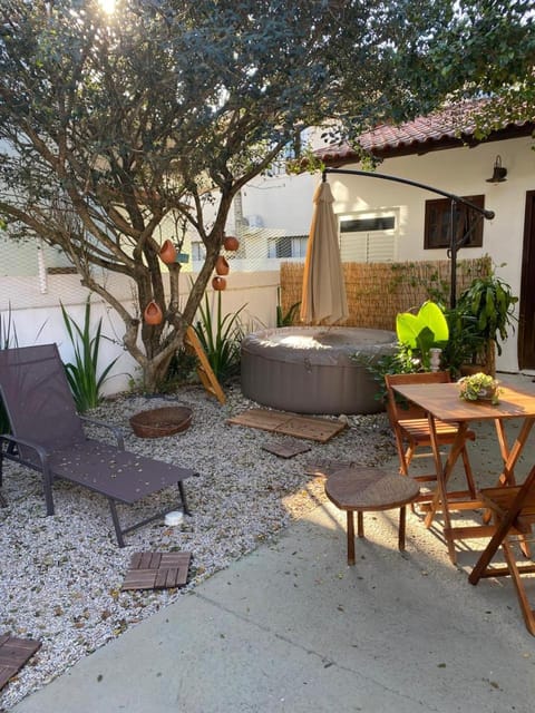
[[[427,412],[437,473],[437,490],[426,517],[426,526],[430,526],[435,512],[440,508],[444,514],[444,536],[448,546],[449,557],[451,561],[455,563],[456,539],[490,537],[496,529],[490,525],[473,527],[451,526],[451,509],[466,510],[484,507],[480,500],[453,500],[448,498],[447,482],[463,448],[468,423],[470,421],[494,421],[503,459],[499,482],[502,485],[514,485],[516,462],[535,422],[535,392],[529,393],[517,387],[503,383],[500,384],[499,403],[493,406],[488,401],[474,402],[460,399],[459,387],[456,383],[400,384],[395,387],[395,390],[403,398],[417,403]],[[512,447],[509,447],[505,433],[505,421],[508,419],[523,419],[517,438]],[[459,424],[457,438],[451,446],[445,463],[442,462],[437,441],[436,420]]]

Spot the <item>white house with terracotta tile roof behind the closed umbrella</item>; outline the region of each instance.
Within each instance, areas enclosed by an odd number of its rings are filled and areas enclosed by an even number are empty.
[[[363,137],[369,143],[367,148],[382,158],[376,174],[473,199],[495,214],[493,219],[474,219],[477,214],[473,214],[470,244],[460,248],[457,257],[490,255],[496,274],[521,297],[516,310],[519,322],[496,361],[497,369],[505,372],[535,373],[534,128],[533,123],[512,124],[478,143],[469,130],[457,137],[458,127],[427,118],[399,129],[383,127]],[[318,154],[328,169],[362,169],[347,145],[323,148]],[[503,179],[489,182],[493,175]],[[373,174],[328,170],[327,179],[334,196],[342,260],[445,260],[449,245],[445,232],[451,209],[448,198]],[[259,185],[247,186],[244,192],[244,215],[256,215],[265,227],[283,227],[290,236],[302,235],[308,232],[312,194],[319,180],[320,173],[259,179]]]

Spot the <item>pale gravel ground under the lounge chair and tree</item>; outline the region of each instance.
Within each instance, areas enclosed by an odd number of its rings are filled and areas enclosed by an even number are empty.
[[[348,428],[331,441],[300,441],[310,446],[308,452],[280,458],[262,446],[293,439],[228,424],[228,417],[257,404],[244,399],[237,385],[225,393],[227,402],[221,406],[192,385],[162,399],[120,397],[91,413],[120,424],[127,449],[200,473],[185,482],[192,517],[177,527],[156,520],[128,535],[123,549],[117,547],[101,496],[59,481],[56,515],[46,517],[39,476],[4,465],[8,507],[0,509],[0,634],[38,638],[42,646],[0,692],[0,713],[314,508],[324,499],[323,479],[305,475],[309,463],[381,465],[395,452],[387,418],[379,413],[340,417]],[[186,431],[157,439],[132,433],[130,416],[172,404],[192,408]],[[166,490],[128,509],[136,510],[138,519],[145,511],[174,510],[174,489]],[[139,550],[192,551],[187,586],[120,592],[130,556]]]

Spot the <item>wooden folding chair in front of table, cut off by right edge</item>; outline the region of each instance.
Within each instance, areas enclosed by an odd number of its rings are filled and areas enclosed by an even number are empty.
[[[521,611],[529,634],[535,636],[535,609],[532,608],[524,582],[521,575],[535,573],[535,564],[518,564],[515,554],[515,540],[524,556],[529,556],[527,536],[532,534],[535,522],[535,466],[529,471],[524,485],[484,488],[479,496],[493,511],[496,521],[496,533],[477,560],[468,580],[476,585],[481,577],[513,578]],[[505,556],[505,566],[489,566],[498,548]]]

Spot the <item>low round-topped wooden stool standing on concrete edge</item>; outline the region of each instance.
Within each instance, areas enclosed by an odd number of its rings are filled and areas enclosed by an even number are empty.
[[[412,502],[419,491],[418,484],[412,478],[366,466],[337,470],[327,479],[327,497],[337,508],[348,514],[348,565],[354,565],[353,512],[357,510],[358,535],[363,537],[363,512],[400,508],[398,547],[405,549],[406,505]]]

